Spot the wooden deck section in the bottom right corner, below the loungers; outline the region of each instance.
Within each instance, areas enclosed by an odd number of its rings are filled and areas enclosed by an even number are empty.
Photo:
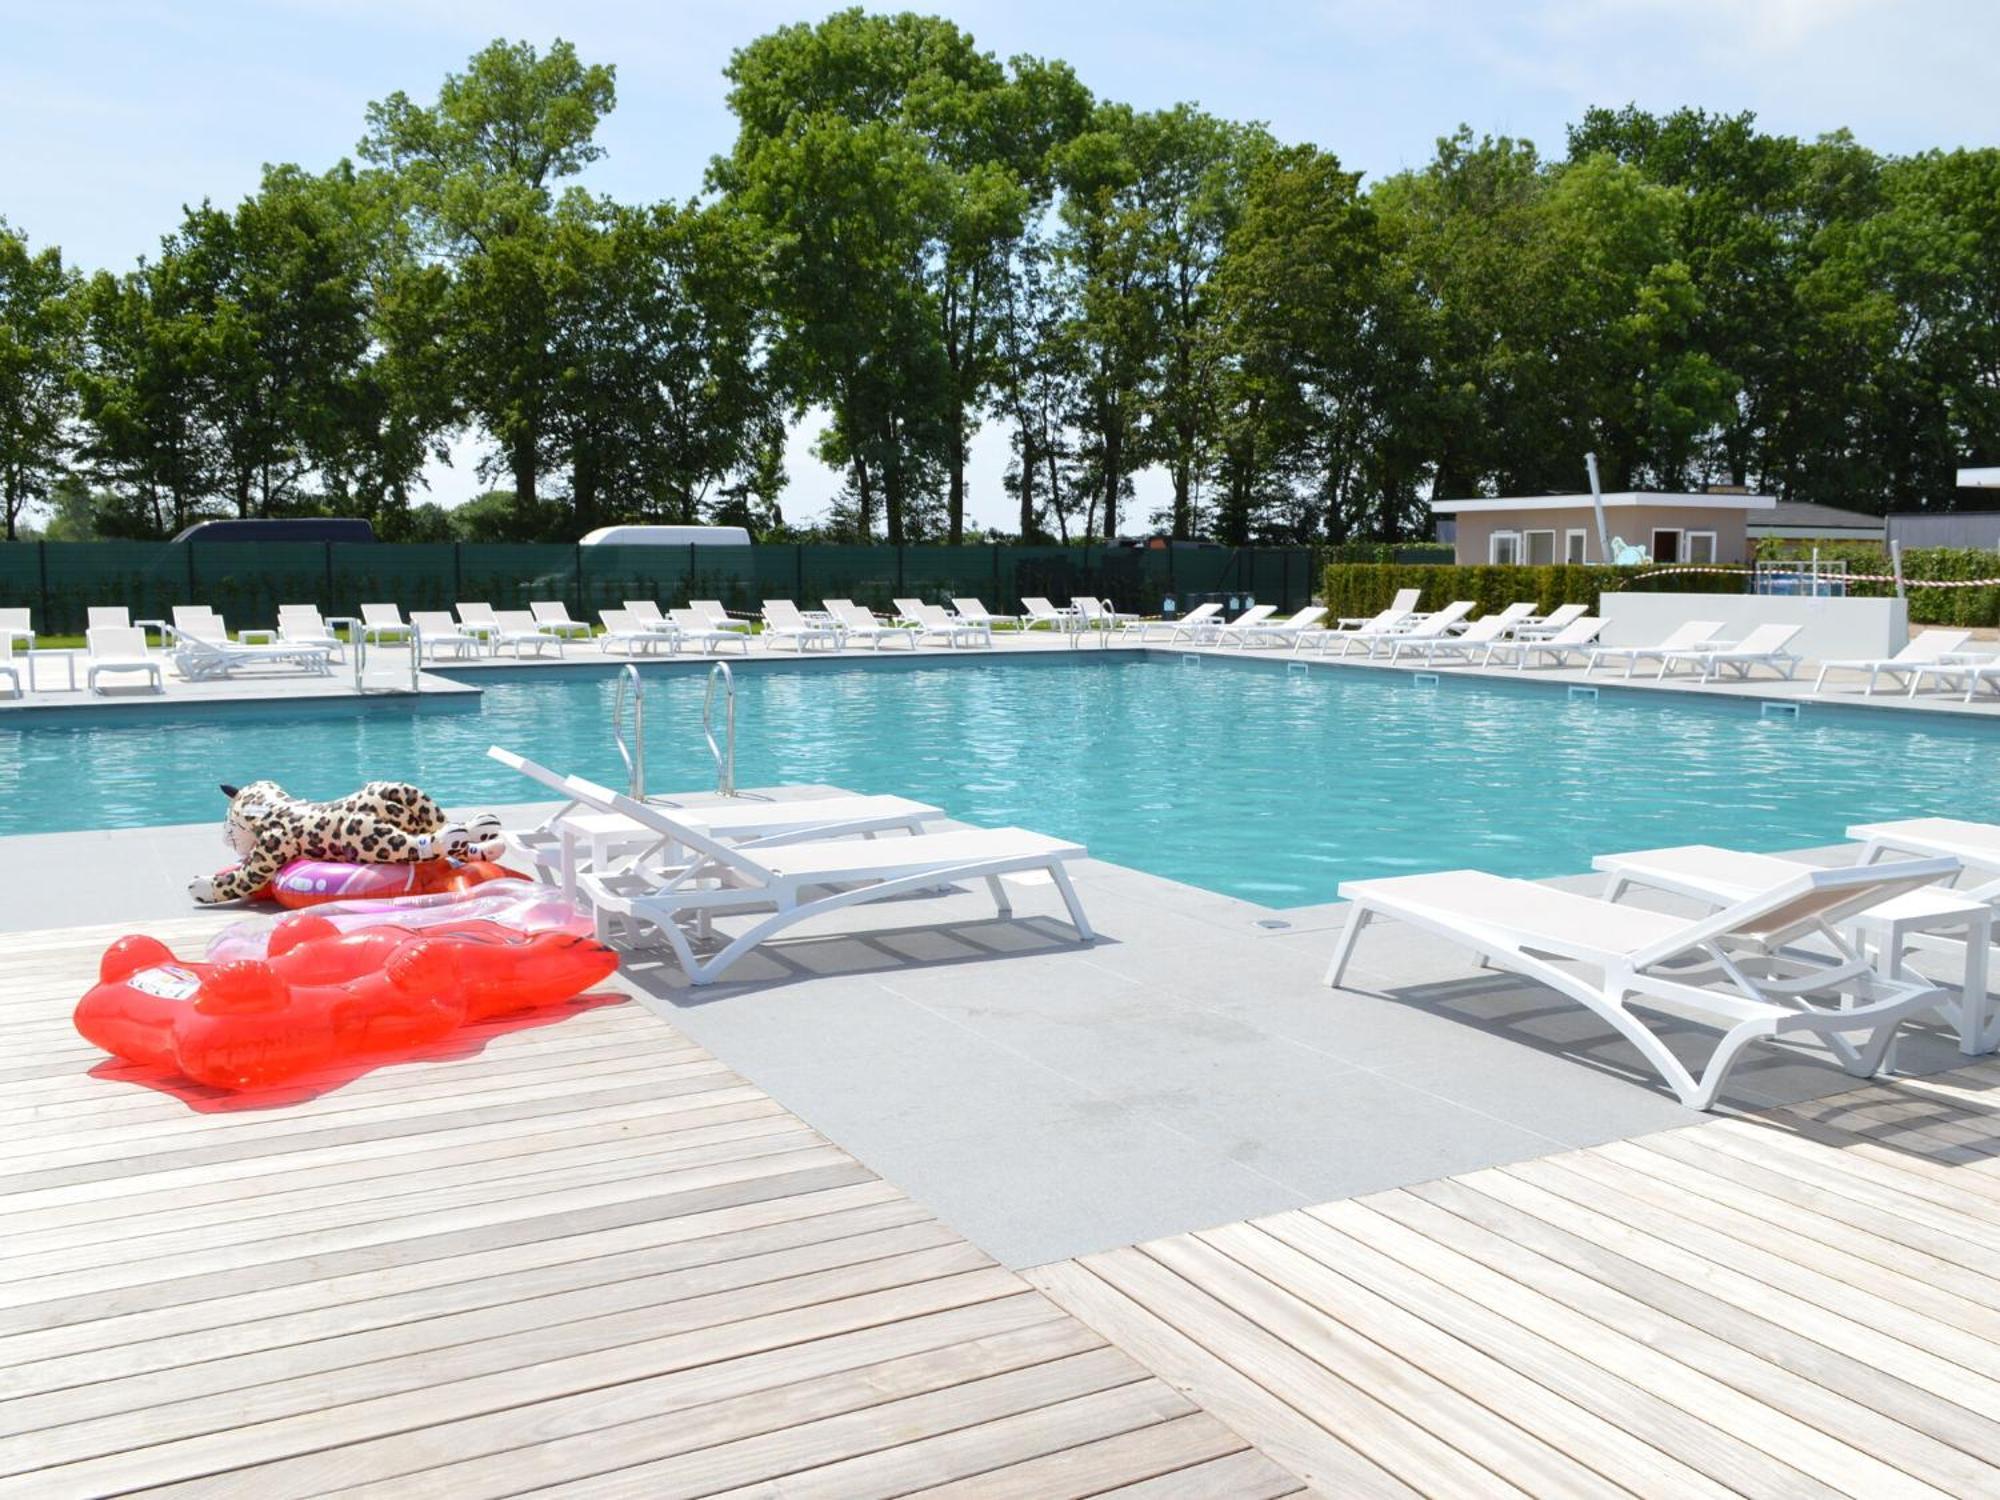
[[[1028,1278],[1318,1494],[2000,1494],[2000,1062]]]

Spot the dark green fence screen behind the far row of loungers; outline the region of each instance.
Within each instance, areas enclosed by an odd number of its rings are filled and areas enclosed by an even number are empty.
[[[524,610],[562,600],[578,620],[626,600],[676,608],[722,600],[754,612],[768,598],[816,608],[852,598],[976,598],[1020,612],[1024,594],[1066,604],[1108,598],[1136,614],[1192,602],[1302,608],[1320,582],[1312,548],[1102,546],[572,546],[510,542],[14,542],[0,546],[0,606],[28,606],[42,634],[78,634],[92,604],[134,620],[208,604],[230,626],[268,626],[280,604],[352,616],[362,604],[448,610],[458,602]]]

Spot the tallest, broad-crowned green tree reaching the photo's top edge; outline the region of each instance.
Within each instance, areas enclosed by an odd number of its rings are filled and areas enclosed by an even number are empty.
[[[890,540],[916,532],[942,472],[956,542],[1006,264],[1088,96],[936,16],[860,10],[752,42],[728,78],[738,136],[710,176],[772,246],[780,372],[832,410],[822,456],[862,534],[878,490]]]

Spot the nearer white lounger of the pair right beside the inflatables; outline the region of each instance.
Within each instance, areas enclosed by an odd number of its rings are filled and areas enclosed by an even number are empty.
[[[960,880],[984,880],[998,914],[1012,916],[1002,880],[1030,872],[1046,872],[1054,880],[1076,936],[1092,940],[1090,922],[1064,868],[1068,860],[1082,858],[1084,848],[1062,838],[1026,828],[960,828],[910,838],[760,840],[730,846],[678,814],[616,792],[610,800],[614,810],[634,822],[650,822],[662,838],[672,838],[690,862],[666,878],[646,870],[578,876],[596,914],[598,936],[640,944],[648,932],[656,932],[694,984],[710,984],[738,958],[798,922],[842,906],[930,892]],[[710,940],[714,918],[736,914],[758,920],[728,938],[712,958],[698,958],[694,944]]]

